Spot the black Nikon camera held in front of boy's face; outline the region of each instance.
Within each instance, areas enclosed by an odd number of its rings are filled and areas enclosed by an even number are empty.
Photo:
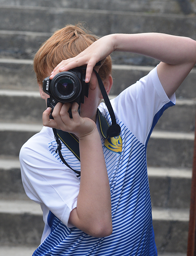
[[[85,83],[85,68],[71,69],[69,71],[60,72],[53,77],[49,76],[43,81],[43,91],[50,95],[47,100],[47,107],[53,111],[58,102],[77,102],[79,105],[84,103],[85,96],[88,97],[89,83]],[[71,110],[69,111],[71,114]]]

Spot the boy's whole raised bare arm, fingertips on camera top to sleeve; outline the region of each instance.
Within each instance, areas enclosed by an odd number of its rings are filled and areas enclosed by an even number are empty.
[[[113,34],[94,42],[78,56],[62,61],[54,70],[67,71],[87,65],[86,82],[94,65],[113,51],[133,52],[158,59],[158,76],[168,96],[180,86],[196,63],[196,41],[162,33]]]

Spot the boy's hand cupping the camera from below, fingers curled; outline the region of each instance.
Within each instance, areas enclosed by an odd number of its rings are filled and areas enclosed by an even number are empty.
[[[71,108],[72,117],[70,118],[68,110]],[[58,102],[53,110],[53,118],[50,119],[51,108],[47,108],[43,113],[43,124],[51,128],[56,128],[65,132],[71,132],[79,139],[92,134],[96,130],[96,123],[85,117],[80,117],[78,113],[78,104]]]

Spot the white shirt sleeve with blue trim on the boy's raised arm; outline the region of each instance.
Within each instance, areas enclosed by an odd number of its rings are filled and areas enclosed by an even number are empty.
[[[175,104],[175,95],[168,98],[154,68],[138,82],[111,100],[116,118],[122,121],[136,138],[146,143],[148,135],[162,110]],[[159,115],[160,114],[160,115]]]

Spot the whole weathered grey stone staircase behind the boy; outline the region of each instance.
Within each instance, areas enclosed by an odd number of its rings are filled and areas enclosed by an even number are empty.
[[[40,206],[22,187],[18,154],[42,128],[45,102],[34,52],[54,30],[85,21],[98,36],[163,32],[196,39],[196,1],[0,0],[0,256],[30,256],[43,230]],[[158,62],[115,52],[111,98]],[[196,69],[176,92],[176,106],[156,125],[147,150],[153,226],[159,255],[185,256],[189,223]]]

